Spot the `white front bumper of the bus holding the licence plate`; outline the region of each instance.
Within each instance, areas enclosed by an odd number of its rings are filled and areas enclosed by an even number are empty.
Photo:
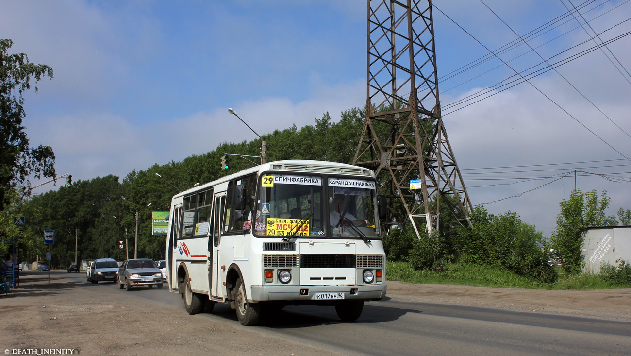
[[[318,302],[322,294],[343,294],[343,300],[379,300],[386,297],[386,284],[371,285],[253,285],[248,301],[302,300]],[[337,299],[342,300],[342,299]]]

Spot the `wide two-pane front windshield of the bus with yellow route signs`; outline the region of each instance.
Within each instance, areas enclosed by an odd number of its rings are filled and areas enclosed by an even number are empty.
[[[312,175],[264,174],[256,199],[255,235],[379,238],[375,183]],[[256,217],[256,218],[255,218]],[[250,220],[250,218],[248,220]]]

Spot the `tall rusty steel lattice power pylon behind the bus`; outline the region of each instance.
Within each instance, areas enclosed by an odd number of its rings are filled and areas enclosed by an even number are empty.
[[[471,201],[440,117],[432,1],[368,0],[367,57],[367,113],[353,163],[385,183],[389,222],[409,219],[420,237],[420,220],[432,232],[442,199],[461,225],[471,225]]]

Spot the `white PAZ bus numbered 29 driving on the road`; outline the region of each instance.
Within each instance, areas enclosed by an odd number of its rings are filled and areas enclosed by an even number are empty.
[[[171,201],[169,290],[189,314],[227,303],[244,325],[301,304],[354,321],[386,296],[385,212],[374,172],[343,163],[270,162],[193,187]]]

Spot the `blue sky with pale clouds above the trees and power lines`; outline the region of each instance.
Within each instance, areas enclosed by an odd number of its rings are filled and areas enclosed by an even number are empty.
[[[631,177],[622,174],[631,172],[623,166],[631,162],[620,160],[504,169],[529,172],[501,175],[519,178],[510,181],[473,180],[500,176],[473,170],[483,167],[631,157],[631,77],[623,69],[631,71],[631,36],[608,45],[623,68],[601,50],[557,68],[596,108],[555,71],[533,78],[537,89],[521,83],[462,109],[450,105],[514,75],[495,57],[450,74],[486,56],[485,47],[495,50],[517,39],[485,4],[520,35],[562,16],[565,6],[582,4],[589,25],[609,40],[631,30],[627,0],[434,3],[444,124],[474,205],[502,199],[488,210],[516,211],[550,235],[574,176],[527,177],[574,169]],[[54,148],[57,173],[74,179],[122,178],[133,169],[214,150],[223,141],[256,138],[228,107],[264,134],[314,124],[324,112],[335,120],[366,100],[365,0],[4,0],[0,9],[0,37],[15,42],[9,51],[54,69],[53,80],[25,96],[24,124],[32,145]],[[594,45],[580,45],[586,39],[570,17],[529,43],[553,62]],[[542,61],[529,51],[520,45],[499,56],[521,72]],[[603,165],[616,167],[594,168]],[[631,208],[631,182],[589,175],[579,176],[577,186],[607,190],[611,214]],[[514,195],[520,196],[505,199]]]

